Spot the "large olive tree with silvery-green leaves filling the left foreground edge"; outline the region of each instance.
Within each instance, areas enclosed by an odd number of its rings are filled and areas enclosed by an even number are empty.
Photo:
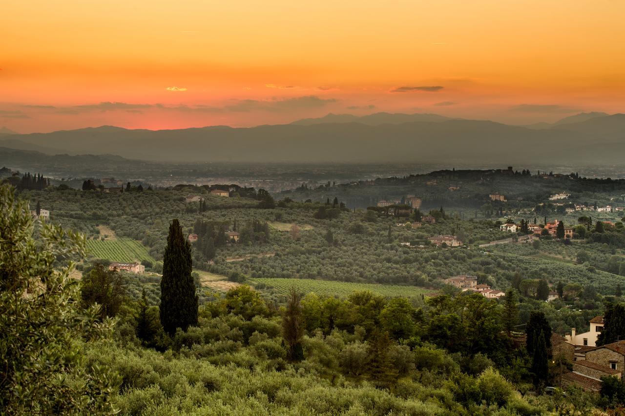
[[[2,414],[114,414],[121,379],[74,352],[111,334],[99,307],[83,309],[69,277],[83,235],[34,223],[26,201],[0,186],[0,409]],[[88,341],[91,340],[91,341]]]

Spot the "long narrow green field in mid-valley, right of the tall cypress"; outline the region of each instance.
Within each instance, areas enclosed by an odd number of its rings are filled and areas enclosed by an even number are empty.
[[[277,293],[287,294],[292,286],[297,290],[318,295],[327,296],[347,296],[357,290],[370,290],[375,294],[389,297],[411,297],[421,296],[431,292],[416,286],[381,285],[375,283],[351,283],[336,282],[333,280],[312,280],[312,279],[281,279],[279,277],[263,277],[251,279],[252,283],[263,283],[272,286]]]

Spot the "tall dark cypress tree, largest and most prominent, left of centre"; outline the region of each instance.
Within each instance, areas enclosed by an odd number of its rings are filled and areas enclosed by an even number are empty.
[[[197,295],[191,277],[191,244],[178,219],[169,225],[161,277],[161,324],[169,335],[197,325]]]

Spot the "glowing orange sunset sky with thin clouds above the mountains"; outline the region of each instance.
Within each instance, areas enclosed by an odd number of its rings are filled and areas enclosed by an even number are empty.
[[[621,0],[2,0],[0,127],[625,112]]]

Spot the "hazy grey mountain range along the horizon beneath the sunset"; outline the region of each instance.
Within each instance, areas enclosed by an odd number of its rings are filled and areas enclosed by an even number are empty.
[[[114,154],[172,162],[592,162],[625,156],[625,114],[582,113],[543,127],[436,114],[328,114],[291,124],[151,131],[102,126],[5,135],[44,154]]]

